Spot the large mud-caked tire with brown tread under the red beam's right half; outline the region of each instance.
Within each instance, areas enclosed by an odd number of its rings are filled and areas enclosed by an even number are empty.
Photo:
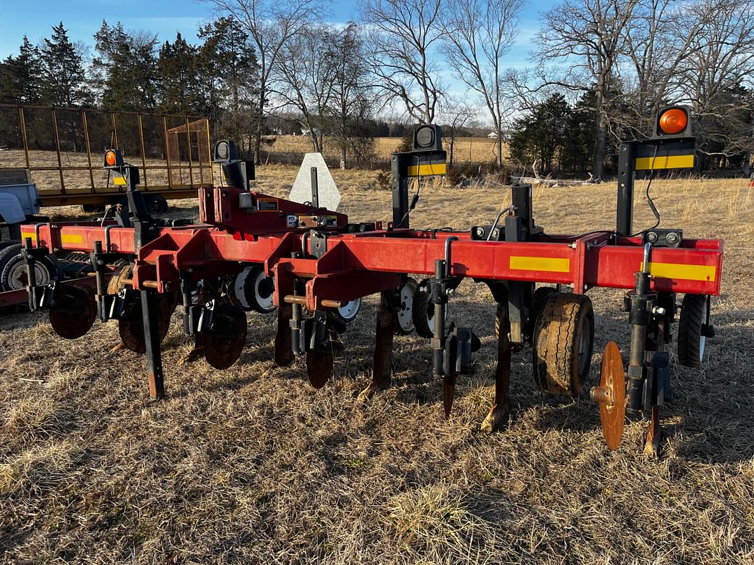
[[[537,316],[532,343],[537,386],[556,395],[578,395],[589,376],[593,347],[592,301],[570,292],[551,294]]]

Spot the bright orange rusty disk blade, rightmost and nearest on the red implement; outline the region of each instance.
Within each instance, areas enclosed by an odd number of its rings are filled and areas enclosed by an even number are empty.
[[[621,359],[621,350],[611,341],[602,353],[602,371],[599,386],[605,391],[604,402],[599,402],[599,420],[602,436],[611,450],[618,449],[623,438],[626,420],[626,373]]]

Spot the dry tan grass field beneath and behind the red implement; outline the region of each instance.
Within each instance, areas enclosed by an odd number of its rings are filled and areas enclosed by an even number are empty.
[[[259,170],[286,194],[295,170]],[[354,220],[388,219],[375,173],[334,172]],[[641,183],[637,183],[637,193]],[[748,183],[656,181],[664,227],[724,237],[722,295],[706,365],[676,367],[660,460],[627,420],[610,452],[587,398],[538,392],[513,357],[512,414],[479,431],[492,395],[494,304],[465,281],[449,316],[483,347],[445,420],[428,342],[397,337],[394,386],[366,405],[376,301],[345,334],[318,391],[305,364],[272,363],[274,316],[249,315],[227,371],[184,363],[176,314],[164,350],[168,399],[151,403],[143,357],[114,323],[64,341],[44,315],[0,319],[0,561],[3,563],[752,563],[754,562],[754,195]],[[417,227],[489,223],[504,189],[422,191]],[[173,215],[196,214],[179,202]],[[55,211],[66,214],[65,209]],[[536,188],[550,233],[611,228],[615,185]],[[637,196],[636,227],[653,218]],[[621,292],[590,292],[595,350],[627,355]],[[599,370],[595,353],[591,383]]]

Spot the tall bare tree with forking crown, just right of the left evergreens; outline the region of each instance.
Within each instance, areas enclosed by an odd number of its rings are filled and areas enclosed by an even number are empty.
[[[271,72],[280,50],[308,23],[320,15],[326,0],[206,0],[221,15],[238,20],[259,51],[259,97],[254,135],[254,158],[261,162],[265,130],[265,105],[270,93]]]

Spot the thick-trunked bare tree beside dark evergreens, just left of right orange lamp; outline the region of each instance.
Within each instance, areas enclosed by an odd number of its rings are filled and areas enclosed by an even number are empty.
[[[602,178],[608,139],[610,105],[625,51],[626,29],[640,0],[565,0],[544,14],[535,38],[538,59],[566,67],[561,80],[544,77],[548,84],[570,90],[596,92],[596,130],[592,173]],[[550,69],[549,72],[556,72]]]

